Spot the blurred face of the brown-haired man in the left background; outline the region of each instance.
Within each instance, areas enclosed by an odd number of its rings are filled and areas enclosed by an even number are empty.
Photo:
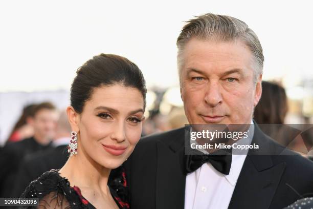
[[[52,139],[55,135],[58,114],[55,110],[41,109],[34,116],[35,136]]]

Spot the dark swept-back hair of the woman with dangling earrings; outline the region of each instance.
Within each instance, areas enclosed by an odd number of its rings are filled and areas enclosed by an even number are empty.
[[[82,113],[95,88],[115,84],[138,89],[142,93],[145,109],[145,79],[140,69],[125,57],[100,54],[86,61],[76,73],[71,87],[71,106],[77,113]]]

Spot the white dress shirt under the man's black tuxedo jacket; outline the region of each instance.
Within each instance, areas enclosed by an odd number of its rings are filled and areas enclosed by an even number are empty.
[[[238,144],[251,144],[253,134],[254,126],[250,126],[247,140],[239,140]],[[247,153],[248,150],[244,154],[232,155],[229,175],[218,172],[210,162],[189,173],[186,176],[185,209],[228,208]]]

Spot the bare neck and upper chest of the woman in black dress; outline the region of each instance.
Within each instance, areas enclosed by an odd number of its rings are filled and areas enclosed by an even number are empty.
[[[62,177],[69,179],[71,186],[80,189],[92,189],[109,194],[107,187],[110,169],[107,169],[86,155],[83,150],[78,150],[76,156],[71,156],[59,171]]]

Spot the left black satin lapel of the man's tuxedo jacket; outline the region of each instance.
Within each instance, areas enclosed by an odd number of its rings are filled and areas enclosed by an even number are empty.
[[[184,129],[168,145],[157,143],[156,208],[184,208]]]

